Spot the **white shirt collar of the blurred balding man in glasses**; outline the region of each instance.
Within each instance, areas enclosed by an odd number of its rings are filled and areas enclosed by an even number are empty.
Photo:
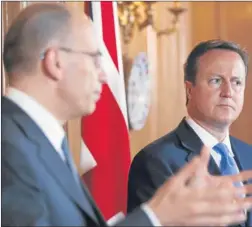
[[[17,104],[41,128],[56,151],[61,150],[65,131],[59,121],[34,98],[24,92],[9,87],[7,98]]]

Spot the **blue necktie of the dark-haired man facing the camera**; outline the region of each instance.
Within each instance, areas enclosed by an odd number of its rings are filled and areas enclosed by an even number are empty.
[[[222,175],[234,175],[238,173],[238,167],[233,157],[229,155],[228,147],[224,143],[218,143],[213,149],[221,155],[220,171]]]

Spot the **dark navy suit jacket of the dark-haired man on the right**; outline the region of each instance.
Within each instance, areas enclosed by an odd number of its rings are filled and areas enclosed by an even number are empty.
[[[230,137],[235,160],[240,170],[252,169],[252,146]],[[143,148],[134,158],[128,183],[128,211],[150,199],[157,188],[200,153],[202,142],[183,119],[178,127]],[[213,158],[209,172],[220,175]],[[252,226],[251,214],[248,222]]]

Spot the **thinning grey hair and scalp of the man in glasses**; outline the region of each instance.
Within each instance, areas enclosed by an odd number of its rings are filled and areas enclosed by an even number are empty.
[[[29,72],[51,42],[63,43],[71,34],[71,13],[63,4],[33,4],[23,10],[4,40],[7,72]]]

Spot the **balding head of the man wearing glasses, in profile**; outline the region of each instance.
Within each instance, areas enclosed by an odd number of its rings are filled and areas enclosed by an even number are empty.
[[[106,80],[100,56],[91,20],[64,4],[29,6],[10,27],[4,44],[10,86],[61,122],[95,110]]]

